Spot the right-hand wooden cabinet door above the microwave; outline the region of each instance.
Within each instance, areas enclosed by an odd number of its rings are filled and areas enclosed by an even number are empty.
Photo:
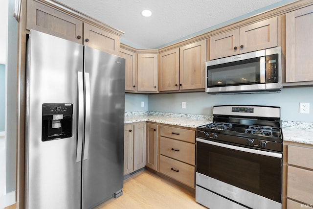
[[[277,17],[241,27],[239,30],[239,53],[277,46],[277,30]]]

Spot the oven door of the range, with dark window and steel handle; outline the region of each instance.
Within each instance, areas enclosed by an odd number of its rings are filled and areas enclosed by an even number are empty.
[[[196,187],[196,199],[201,188],[253,209],[281,209],[282,154],[197,138]]]

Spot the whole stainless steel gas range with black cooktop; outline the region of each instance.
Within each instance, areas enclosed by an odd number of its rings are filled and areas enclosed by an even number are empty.
[[[197,127],[196,201],[209,209],[281,209],[280,108],[213,107]]]

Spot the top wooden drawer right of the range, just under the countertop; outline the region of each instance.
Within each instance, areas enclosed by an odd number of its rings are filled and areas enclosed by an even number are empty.
[[[288,164],[313,169],[313,149],[289,145]]]

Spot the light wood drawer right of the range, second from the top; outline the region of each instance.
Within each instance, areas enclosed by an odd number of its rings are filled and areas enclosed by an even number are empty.
[[[287,196],[313,205],[313,171],[288,166],[287,173]]]

